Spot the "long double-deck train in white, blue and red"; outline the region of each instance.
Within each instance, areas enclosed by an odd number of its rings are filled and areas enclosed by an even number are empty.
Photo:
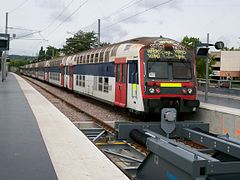
[[[28,64],[21,73],[135,113],[199,107],[195,56],[181,43],[141,37]]]

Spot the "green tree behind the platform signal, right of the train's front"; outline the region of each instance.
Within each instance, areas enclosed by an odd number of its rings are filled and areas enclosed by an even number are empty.
[[[181,42],[188,48],[193,49],[194,52],[197,46],[201,44],[199,38],[188,36],[185,36]],[[213,58],[209,58],[209,74],[212,73],[213,64],[215,64],[215,61],[213,60]],[[206,78],[206,57],[196,57],[196,72],[198,78]]]

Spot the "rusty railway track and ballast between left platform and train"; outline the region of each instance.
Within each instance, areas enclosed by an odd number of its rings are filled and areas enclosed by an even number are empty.
[[[148,151],[144,147],[138,144],[116,141],[113,121],[104,119],[100,114],[98,114],[99,116],[96,116],[96,113],[86,111],[84,108],[79,107],[78,103],[71,101],[72,98],[66,98],[66,94],[64,94],[66,92],[60,88],[48,85],[30,77],[22,77],[58,107],[67,117],[69,117],[75,126],[130,179],[135,177],[137,168],[148,154]],[[56,93],[56,91],[61,91],[62,93]],[[67,95],[79,98],[72,93],[67,93]],[[61,105],[59,105],[60,103]],[[67,110],[64,111],[63,109],[66,108]],[[77,114],[76,116],[78,116],[78,119],[72,118],[72,114]],[[118,116],[119,115],[117,114],[117,117]],[[84,119],[84,121],[81,121],[81,119]],[[133,118],[127,118],[127,121],[131,120],[136,121]]]

